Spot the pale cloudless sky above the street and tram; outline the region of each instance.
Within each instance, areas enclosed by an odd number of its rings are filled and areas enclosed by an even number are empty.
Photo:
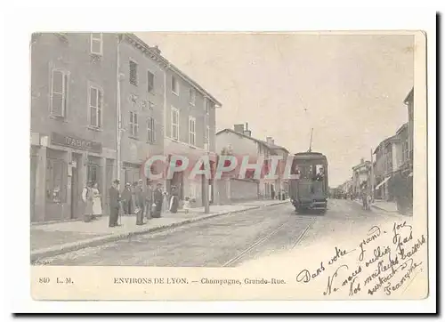
[[[414,36],[136,33],[222,103],[216,130],[248,123],[291,153],[328,157],[329,185],[408,122]]]

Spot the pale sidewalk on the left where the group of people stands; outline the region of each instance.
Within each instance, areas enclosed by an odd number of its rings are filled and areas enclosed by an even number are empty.
[[[204,207],[197,207],[190,209],[190,213],[163,213],[161,218],[152,218],[142,226],[136,226],[134,215],[122,216],[121,226],[113,228],[109,228],[108,216],[92,222],[69,221],[33,225],[31,226],[31,262],[85,247],[100,246],[126,237],[161,229],[172,229],[223,214],[286,203],[288,200],[254,200],[236,205],[211,205],[210,213],[204,213]]]

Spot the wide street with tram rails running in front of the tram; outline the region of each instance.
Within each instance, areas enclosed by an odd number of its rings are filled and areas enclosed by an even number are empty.
[[[325,215],[298,214],[286,203],[85,248],[45,261],[52,265],[233,267],[327,240],[331,233],[347,237],[374,222],[396,218],[401,215],[376,209],[363,211],[350,200],[329,200]]]

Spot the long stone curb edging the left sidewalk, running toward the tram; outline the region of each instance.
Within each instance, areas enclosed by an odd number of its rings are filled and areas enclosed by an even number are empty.
[[[166,225],[153,227],[153,228],[149,228],[149,229],[127,231],[127,232],[120,233],[117,235],[106,235],[106,236],[102,236],[102,237],[95,237],[92,239],[87,239],[87,240],[81,241],[81,242],[74,242],[74,243],[69,243],[69,244],[62,244],[60,246],[44,248],[41,250],[36,250],[34,252],[31,252],[31,256],[30,256],[31,264],[32,264],[32,262],[36,262],[36,261],[41,260],[45,257],[52,257],[52,256],[60,255],[60,254],[66,254],[66,253],[74,252],[74,251],[77,251],[77,250],[83,249],[83,248],[100,246],[100,245],[114,242],[117,240],[125,239],[127,237],[139,236],[139,235],[148,234],[150,232],[158,232],[160,230],[166,230],[166,229],[176,228],[179,226],[185,226],[185,225],[193,223],[193,222],[204,221],[206,219],[222,216],[224,214],[242,213],[242,212],[245,212],[248,210],[254,210],[254,209],[261,208],[261,207],[268,207],[268,206],[272,206],[272,205],[283,205],[285,202],[286,201],[281,200],[280,203],[275,203],[275,204],[271,204],[271,205],[249,205],[245,209],[234,210],[234,211],[225,212],[225,213],[212,213],[212,214],[208,214],[208,215],[202,215],[200,217],[190,218],[185,221],[178,221],[178,222],[174,222],[171,224],[166,224]]]

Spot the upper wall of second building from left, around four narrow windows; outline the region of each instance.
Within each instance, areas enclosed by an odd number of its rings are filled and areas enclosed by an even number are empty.
[[[133,181],[142,178],[141,165],[150,156],[164,152],[164,70],[142,49],[123,40],[120,44],[122,142],[121,178]],[[137,63],[137,83],[130,82],[130,60]],[[149,92],[149,71],[153,89]],[[131,113],[136,113],[138,133],[134,135]],[[148,134],[149,117],[154,121],[154,141]],[[126,174],[126,175],[125,175]]]

